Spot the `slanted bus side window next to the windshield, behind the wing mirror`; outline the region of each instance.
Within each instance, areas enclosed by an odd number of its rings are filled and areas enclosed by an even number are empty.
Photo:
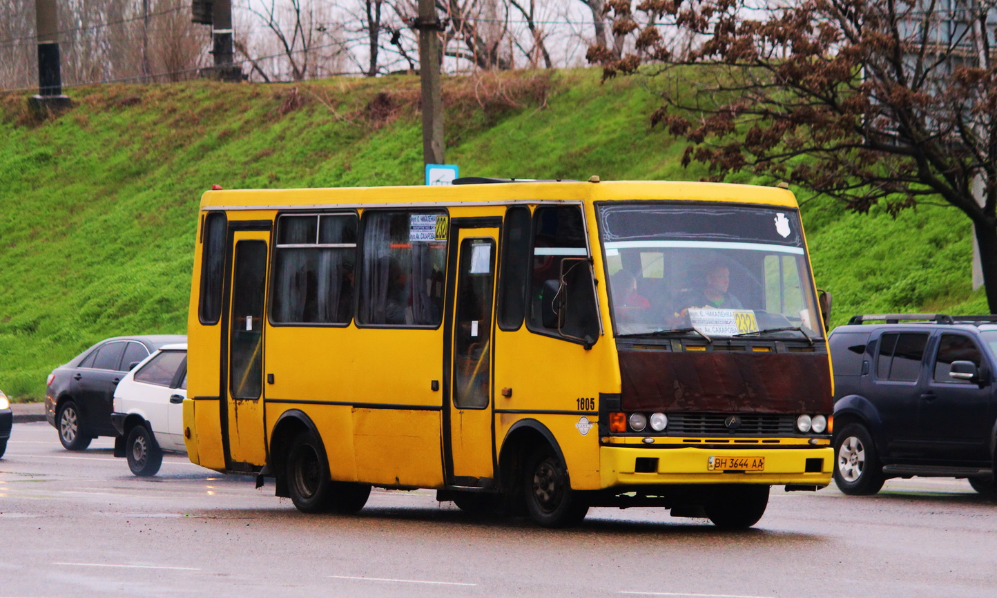
[[[532,246],[527,327],[595,342],[598,315],[581,210],[575,206],[537,207]]]

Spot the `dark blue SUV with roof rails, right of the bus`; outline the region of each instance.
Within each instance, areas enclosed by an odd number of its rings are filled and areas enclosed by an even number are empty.
[[[997,497],[997,316],[854,316],[829,342],[842,492],[924,475],[966,477]]]

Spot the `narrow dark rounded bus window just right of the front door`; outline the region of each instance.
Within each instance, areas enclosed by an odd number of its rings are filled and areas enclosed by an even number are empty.
[[[498,279],[498,328],[518,330],[526,313],[529,279],[529,208],[514,205],[505,211]]]

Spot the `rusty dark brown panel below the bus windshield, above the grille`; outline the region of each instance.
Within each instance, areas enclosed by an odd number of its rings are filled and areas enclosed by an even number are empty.
[[[624,411],[830,414],[827,354],[619,348]]]

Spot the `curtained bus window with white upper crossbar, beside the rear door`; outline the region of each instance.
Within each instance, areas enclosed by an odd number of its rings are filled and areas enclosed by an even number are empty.
[[[353,315],[356,247],[356,214],[280,216],[271,320],[348,324]]]

